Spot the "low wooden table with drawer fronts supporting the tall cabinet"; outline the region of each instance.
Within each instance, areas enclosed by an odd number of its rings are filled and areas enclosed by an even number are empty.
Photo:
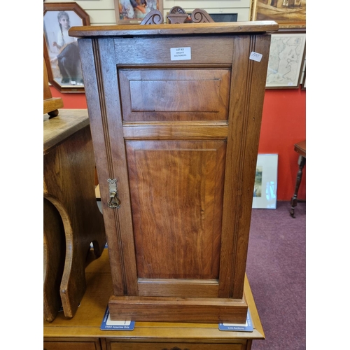
[[[55,321],[44,321],[44,349],[74,350],[248,350],[253,339],[265,339],[248,279],[244,293],[251,311],[253,332],[218,330],[211,323],[135,323],[134,330],[100,330],[111,295],[112,280],[109,255],[104,249],[101,258],[86,268],[87,289],[76,316],[71,319],[60,312]]]

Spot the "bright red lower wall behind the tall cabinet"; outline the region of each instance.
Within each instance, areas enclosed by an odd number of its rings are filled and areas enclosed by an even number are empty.
[[[62,97],[65,109],[86,109],[85,94],[61,94],[50,87],[52,97]],[[290,200],[295,188],[298,155],[294,144],[306,139],[306,91],[301,89],[266,90],[262,110],[259,153],[279,155],[277,199]],[[298,198],[306,199],[306,166]]]

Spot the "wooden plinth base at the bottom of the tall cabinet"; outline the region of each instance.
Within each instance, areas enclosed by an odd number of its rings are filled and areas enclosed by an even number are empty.
[[[115,321],[245,323],[247,311],[245,298],[112,295],[109,299],[109,314]]]

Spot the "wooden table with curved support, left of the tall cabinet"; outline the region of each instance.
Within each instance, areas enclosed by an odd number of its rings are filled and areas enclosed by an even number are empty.
[[[94,193],[94,153],[86,109],[43,116],[44,318],[63,306],[73,317],[86,288],[85,260],[106,244]]]

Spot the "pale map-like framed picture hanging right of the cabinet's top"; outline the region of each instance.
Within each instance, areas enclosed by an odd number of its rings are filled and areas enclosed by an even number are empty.
[[[299,88],[306,34],[271,34],[267,88]]]

